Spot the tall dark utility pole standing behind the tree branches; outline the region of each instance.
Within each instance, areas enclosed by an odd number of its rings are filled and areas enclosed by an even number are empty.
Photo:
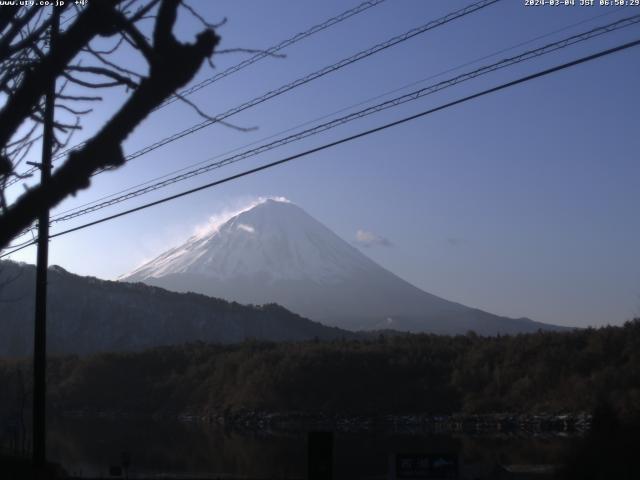
[[[49,52],[55,48],[60,26],[59,7],[53,7]],[[53,116],[56,80],[51,80],[45,96],[40,182],[49,183],[53,153]],[[38,217],[38,258],[36,269],[36,318],[33,342],[33,464],[41,476],[46,464],[46,371],[47,371],[47,268],[49,266],[49,209],[43,205]]]

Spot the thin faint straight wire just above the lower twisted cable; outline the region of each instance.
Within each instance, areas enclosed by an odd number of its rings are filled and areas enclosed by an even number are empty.
[[[113,198],[113,197],[115,197],[115,196],[121,195],[121,194],[126,193],[126,192],[130,192],[131,190],[134,190],[134,189],[139,188],[139,187],[143,187],[143,186],[145,186],[145,185],[148,185],[148,184],[150,184],[150,183],[156,182],[156,181],[158,181],[158,180],[162,180],[162,179],[164,179],[164,178],[174,176],[174,175],[176,175],[176,174],[178,174],[178,173],[180,173],[180,172],[184,172],[185,170],[188,170],[188,169],[190,169],[190,168],[194,168],[194,167],[197,167],[197,166],[202,165],[202,164],[204,164],[204,163],[208,163],[208,162],[210,162],[210,161],[212,161],[212,160],[215,160],[216,158],[220,158],[220,157],[223,157],[223,156],[225,156],[225,155],[231,154],[231,153],[233,153],[233,152],[237,152],[238,150],[242,150],[243,148],[247,148],[247,147],[250,147],[250,146],[252,146],[252,145],[256,145],[256,144],[258,144],[258,143],[260,143],[260,142],[263,142],[263,141],[265,141],[265,140],[270,140],[270,139],[272,139],[272,138],[277,137],[278,135],[282,135],[282,134],[284,134],[284,133],[291,132],[291,131],[293,131],[293,130],[295,130],[295,129],[297,129],[297,128],[305,127],[305,126],[307,126],[307,125],[310,125],[310,124],[313,124],[313,123],[319,122],[319,121],[324,120],[324,119],[326,119],[326,118],[330,118],[330,117],[332,117],[333,115],[337,115],[337,114],[339,114],[339,113],[349,111],[349,110],[351,110],[351,109],[353,109],[353,108],[360,107],[360,106],[362,106],[362,105],[366,105],[367,103],[370,103],[370,102],[372,102],[372,101],[374,101],[374,100],[379,100],[379,99],[384,98],[384,97],[386,97],[386,96],[388,96],[388,95],[391,95],[391,94],[394,94],[394,93],[400,92],[400,91],[402,91],[402,90],[406,90],[406,89],[407,89],[407,88],[409,88],[409,87],[413,87],[413,86],[415,86],[415,85],[419,85],[419,84],[421,84],[421,83],[424,83],[424,82],[426,82],[426,81],[428,81],[428,80],[431,80],[431,79],[434,79],[434,78],[440,77],[440,76],[442,76],[442,75],[444,75],[444,74],[446,74],[446,73],[450,73],[450,72],[454,72],[454,71],[456,71],[456,70],[460,70],[460,69],[461,69],[461,68],[463,68],[463,67],[466,67],[466,66],[469,66],[469,65],[473,65],[474,63],[478,63],[478,62],[480,62],[480,61],[482,61],[482,60],[486,60],[486,59],[491,58],[491,57],[495,57],[496,55],[499,55],[499,54],[501,54],[501,53],[509,52],[509,51],[514,50],[514,49],[516,49],[516,48],[518,48],[518,47],[522,47],[522,46],[524,46],[524,45],[528,45],[528,44],[530,44],[530,43],[535,42],[536,40],[540,40],[540,39],[543,39],[543,38],[547,38],[547,37],[550,37],[550,36],[555,35],[555,34],[557,34],[557,33],[564,32],[564,31],[566,31],[566,30],[569,30],[569,29],[571,29],[571,28],[577,27],[577,26],[579,26],[579,25],[583,25],[583,24],[585,24],[585,23],[591,22],[591,21],[596,20],[596,19],[598,19],[598,18],[602,18],[602,17],[605,17],[605,16],[612,15],[612,14],[614,14],[614,13],[618,13],[618,12],[620,12],[620,11],[621,11],[621,10],[623,10],[623,9],[624,9],[624,7],[620,7],[620,8],[617,8],[617,9],[615,9],[615,10],[606,11],[605,13],[601,13],[601,14],[599,14],[599,15],[595,15],[595,16],[593,16],[593,17],[589,17],[589,18],[586,18],[586,19],[584,19],[584,20],[581,20],[581,21],[579,21],[579,22],[576,22],[576,23],[572,23],[572,24],[566,25],[566,26],[564,26],[564,27],[562,27],[562,28],[559,28],[559,29],[553,30],[553,31],[551,31],[551,32],[547,32],[547,33],[542,34],[542,35],[538,35],[538,36],[536,36],[536,37],[534,37],[534,38],[531,38],[531,39],[529,39],[529,40],[526,40],[526,41],[523,41],[523,42],[517,43],[517,44],[512,45],[512,46],[510,46],[510,47],[503,48],[503,49],[501,49],[501,50],[498,50],[498,51],[496,51],[496,52],[490,53],[490,54],[488,54],[488,55],[484,55],[484,56],[479,57],[479,58],[476,58],[476,59],[474,59],[474,60],[470,60],[470,61],[468,61],[468,62],[465,62],[465,63],[459,64],[459,65],[457,65],[457,66],[455,66],[455,67],[448,68],[448,69],[446,69],[446,70],[440,71],[439,73],[436,73],[436,74],[432,74],[432,75],[430,75],[430,76],[428,76],[428,77],[426,77],[426,78],[423,78],[423,79],[421,79],[421,80],[417,80],[417,81],[411,82],[411,83],[406,84],[406,85],[404,85],[404,86],[402,86],[402,87],[395,88],[395,89],[390,90],[390,91],[387,91],[387,92],[385,92],[385,93],[382,93],[382,94],[376,95],[375,97],[370,97],[370,98],[368,98],[367,100],[363,100],[363,101],[360,101],[360,102],[358,102],[358,103],[355,103],[355,104],[349,105],[349,106],[347,106],[347,107],[340,108],[339,110],[333,111],[333,112],[331,112],[331,113],[324,114],[324,115],[322,115],[322,116],[320,116],[320,117],[317,117],[317,118],[315,118],[315,119],[313,119],[313,120],[307,120],[307,121],[305,121],[305,122],[303,122],[303,123],[301,123],[301,124],[295,125],[295,126],[293,126],[293,127],[289,127],[289,128],[287,128],[287,129],[285,129],[285,130],[281,130],[281,131],[279,131],[279,132],[277,132],[277,133],[271,134],[271,135],[269,135],[269,136],[267,136],[267,137],[263,137],[263,138],[261,138],[261,139],[259,139],[259,140],[254,140],[253,142],[250,142],[250,143],[244,144],[244,145],[239,146],[239,147],[235,147],[235,148],[233,148],[233,149],[231,149],[231,150],[227,150],[226,152],[223,152],[223,153],[219,153],[219,154],[217,154],[217,155],[215,155],[215,156],[213,156],[213,157],[209,157],[209,158],[208,158],[208,159],[206,159],[206,160],[201,160],[201,161],[196,162],[196,163],[193,163],[193,164],[191,164],[191,165],[187,165],[187,166],[185,166],[185,167],[182,167],[182,168],[179,168],[179,169],[177,169],[177,170],[174,170],[174,171],[172,171],[172,172],[168,172],[168,173],[166,173],[166,174],[164,174],[164,175],[161,175],[161,176],[159,176],[159,177],[155,177],[155,178],[152,178],[152,179],[147,180],[147,181],[145,181],[145,182],[141,182],[141,183],[138,183],[138,184],[136,184],[136,185],[132,185],[131,187],[125,188],[125,189],[123,189],[123,190],[119,190],[119,191],[117,191],[117,192],[111,193],[111,194],[109,194],[109,195],[105,195],[105,196],[103,196],[103,197],[99,197],[99,198],[97,198],[96,200],[92,200],[92,201],[89,201],[89,202],[83,203],[83,204],[81,204],[81,205],[78,205],[78,206],[75,206],[75,207],[71,207],[71,208],[69,208],[69,209],[67,209],[67,210],[63,210],[62,212],[58,212],[58,214],[57,214],[57,215],[55,215],[55,216],[54,216],[54,218],[58,218],[58,217],[60,217],[60,216],[62,216],[62,215],[64,215],[64,214],[66,214],[66,213],[74,212],[74,211],[80,210],[80,209],[82,209],[82,208],[84,208],[84,207],[87,207],[87,206],[90,206],[90,205],[93,205],[93,204],[96,204],[96,203],[100,203],[100,202],[102,202],[103,200],[107,200],[107,199],[109,199],[109,198]],[[27,233],[27,232],[28,232],[28,230],[27,230],[27,231],[25,231],[25,233]]]

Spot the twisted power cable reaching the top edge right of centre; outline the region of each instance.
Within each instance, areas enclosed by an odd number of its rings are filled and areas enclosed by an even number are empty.
[[[483,8],[486,8],[490,5],[493,5],[494,3],[499,2],[500,0],[481,0],[479,2],[467,5],[464,8],[461,8],[459,10],[455,10],[451,13],[448,13],[447,15],[440,17],[436,20],[432,20],[424,25],[421,25],[419,27],[415,27],[412,28],[411,30],[408,30],[407,32],[401,34],[401,35],[397,35],[395,37],[392,37],[388,40],[386,40],[385,42],[379,43],[377,45],[374,45],[373,47],[370,47],[366,50],[362,50],[354,55],[351,55],[350,57],[344,58],[342,60],[340,60],[339,62],[333,63],[331,65],[328,65],[324,68],[321,68],[320,70],[317,70],[313,73],[310,73],[308,75],[305,75],[304,77],[300,77],[296,80],[294,80],[293,82],[290,82],[288,84],[282,85],[279,88],[276,88],[275,90],[270,90],[269,92],[259,96],[259,97],[255,97],[241,105],[237,105],[223,113],[220,113],[218,115],[216,115],[215,117],[209,118],[207,120],[204,120],[200,123],[197,123],[195,125],[192,125],[191,127],[182,130],[180,132],[174,133],[173,135],[170,135],[168,137],[165,137],[161,140],[158,140],[157,142],[152,143],[151,145],[147,145],[146,147],[143,147],[133,153],[130,153],[129,155],[125,156],[125,162],[130,162],[131,160],[134,160],[138,157],[141,157],[149,152],[152,152],[153,150],[156,150],[160,147],[163,147],[169,143],[175,142],[176,140],[179,140],[187,135],[191,135],[192,133],[198,132],[200,130],[202,130],[203,128],[206,128],[208,126],[213,125],[214,123],[219,123],[223,120],[226,120],[227,118],[236,115],[240,112],[243,112],[249,108],[255,107],[256,105],[259,105],[261,103],[264,103],[268,100],[271,100],[272,98],[278,97],[290,90],[293,90],[294,88],[300,87],[302,85],[305,85],[309,82],[312,82],[313,80],[317,80],[318,78],[324,77],[325,75],[328,75],[330,73],[333,73],[337,70],[340,70],[348,65],[351,65],[353,63],[356,63],[360,60],[363,60],[365,58],[370,57],[371,55],[374,55],[378,52],[381,52],[383,50],[386,50],[388,48],[391,48],[395,45],[398,45],[402,42],[406,42],[407,40],[410,40],[411,38],[420,35],[422,33],[428,32],[429,30],[433,30],[434,28],[440,27],[442,25],[445,25],[449,22],[452,22],[454,20],[457,20],[458,18],[462,18],[466,15],[469,15],[471,13],[474,13],[478,10],[481,10]],[[75,151],[79,148],[82,148],[83,144],[77,145],[75,147],[72,147],[70,149],[67,149],[63,152],[60,152],[59,154],[56,155],[56,159],[62,158],[66,155],[68,155],[70,152]],[[102,172],[104,172],[105,170],[99,170],[96,173],[94,173],[94,175],[98,175]],[[13,183],[15,183],[15,179],[12,183],[7,183],[7,186],[12,185]]]

